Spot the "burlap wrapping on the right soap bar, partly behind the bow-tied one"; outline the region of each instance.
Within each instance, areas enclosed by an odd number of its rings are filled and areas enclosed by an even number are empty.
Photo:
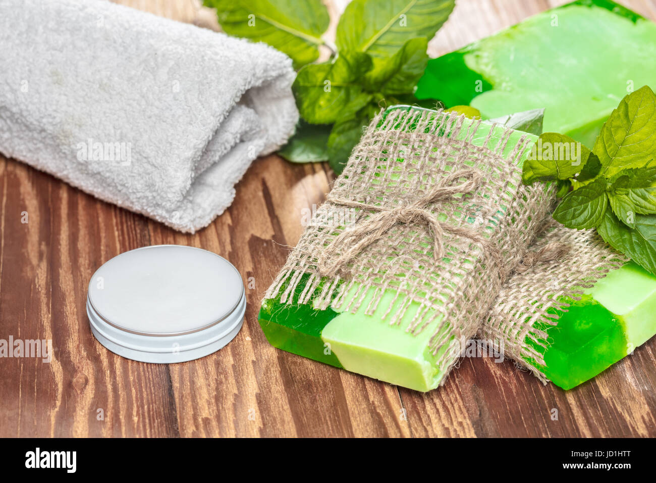
[[[628,259],[605,244],[593,229],[565,228],[549,217],[541,232],[529,249],[529,262],[520,264],[520,271],[499,292],[479,336],[501,346],[505,356],[546,383],[543,367],[547,336],[541,327],[558,325],[556,311],[566,311],[568,299],[580,300],[585,288]],[[568,249],[549,260],[531,263],[531,254],[556,244]]]

